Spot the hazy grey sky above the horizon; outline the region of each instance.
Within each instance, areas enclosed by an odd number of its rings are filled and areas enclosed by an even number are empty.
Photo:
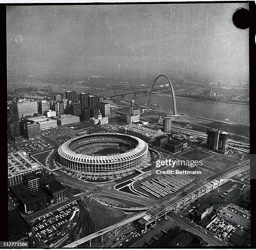
[[[9,73],[248,79],[246,3],[10,6]]]

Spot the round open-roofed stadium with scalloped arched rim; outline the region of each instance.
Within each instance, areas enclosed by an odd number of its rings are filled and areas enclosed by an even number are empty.
[[[125,134],[90,134],[70,139],[59,149],[59,161],[69,172],[88,177],[116,177],[150,160],[148,144]]]

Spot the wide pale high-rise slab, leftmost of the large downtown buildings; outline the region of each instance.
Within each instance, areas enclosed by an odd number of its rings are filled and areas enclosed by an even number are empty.
[[[17,113],[19,119],[21,116],[38,114],[37,101],[22,99],[13,103],[13,113]]]

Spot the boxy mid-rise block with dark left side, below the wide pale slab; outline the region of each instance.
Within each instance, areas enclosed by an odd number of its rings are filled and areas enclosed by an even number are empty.
[[[40,124],[22,119],[20,121],[20,133],[27,139],[33,140],[41,137]]]

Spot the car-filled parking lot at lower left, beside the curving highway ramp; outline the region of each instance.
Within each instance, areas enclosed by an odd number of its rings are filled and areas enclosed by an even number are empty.
[[[77,202],[33,220],[30,225],[39,241],[51,247],[74,227],[79,214]]]

